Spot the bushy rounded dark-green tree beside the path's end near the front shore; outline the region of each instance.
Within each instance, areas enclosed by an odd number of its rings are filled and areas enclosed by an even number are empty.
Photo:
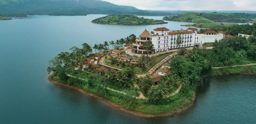
[[[148,98],[150,103],[156,104],[161,102],[161,100],[163,99],[163,96],[159,92],[158,86],[155,86],[155,85],[151,86],[148,94],[149,94]]]

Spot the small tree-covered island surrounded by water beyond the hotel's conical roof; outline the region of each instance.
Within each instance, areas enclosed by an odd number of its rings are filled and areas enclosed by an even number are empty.
[[[135,15],[107,15],[105,17],[94,19],[91,22],[109,25],[158,25],[168,23],[163,20],[146,19]]]

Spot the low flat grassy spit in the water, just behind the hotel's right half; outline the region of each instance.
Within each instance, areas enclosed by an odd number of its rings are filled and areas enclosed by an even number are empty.
[[[213,22],[213,23],[196,23],[196,24],[188,24],[188,25],[181,25],[181,26],[188,26],[188,27],[199,27],[199,28],[209,28],[209,27],[224,27],[224,26],[231,26],[233,23],[220,23],[220,22]]]

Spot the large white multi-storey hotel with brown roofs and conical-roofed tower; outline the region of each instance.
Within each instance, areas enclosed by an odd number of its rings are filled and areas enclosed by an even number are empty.
[[[154,34],[149,34],[147,30],[143,31],[139,38],[135,40],[135,43],[132,44],[134,52],[146,52],[143,50],[141,46],[146,41],[152,41],[155,52],[157,51],[168,51],[169,49],[181,48],[181,47],[192,47],[199,46],[202,47],[204,43],[212,43],[215,40],[220,40],[225,38],[225,32],[220,31],[217,33],[216,31],[205,31],[203,34],[197,33],[198,29],[189,27],[187,30],[174,30],[170,31],[165,27],[159,27],[154,29]],[[182,44],[177,45],[176,39],[181,36]]]

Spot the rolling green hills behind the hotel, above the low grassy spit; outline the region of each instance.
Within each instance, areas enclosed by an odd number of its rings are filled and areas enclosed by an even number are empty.
[[[182,21],[193,23],[212,23],[212,22],[233,22],[233,23],[253,23],[255,19],[248,17],[255,17],[255,14],[245,13],[194,13],[186,12],[170,17],[164,17],[163,20],[168,21]]]

